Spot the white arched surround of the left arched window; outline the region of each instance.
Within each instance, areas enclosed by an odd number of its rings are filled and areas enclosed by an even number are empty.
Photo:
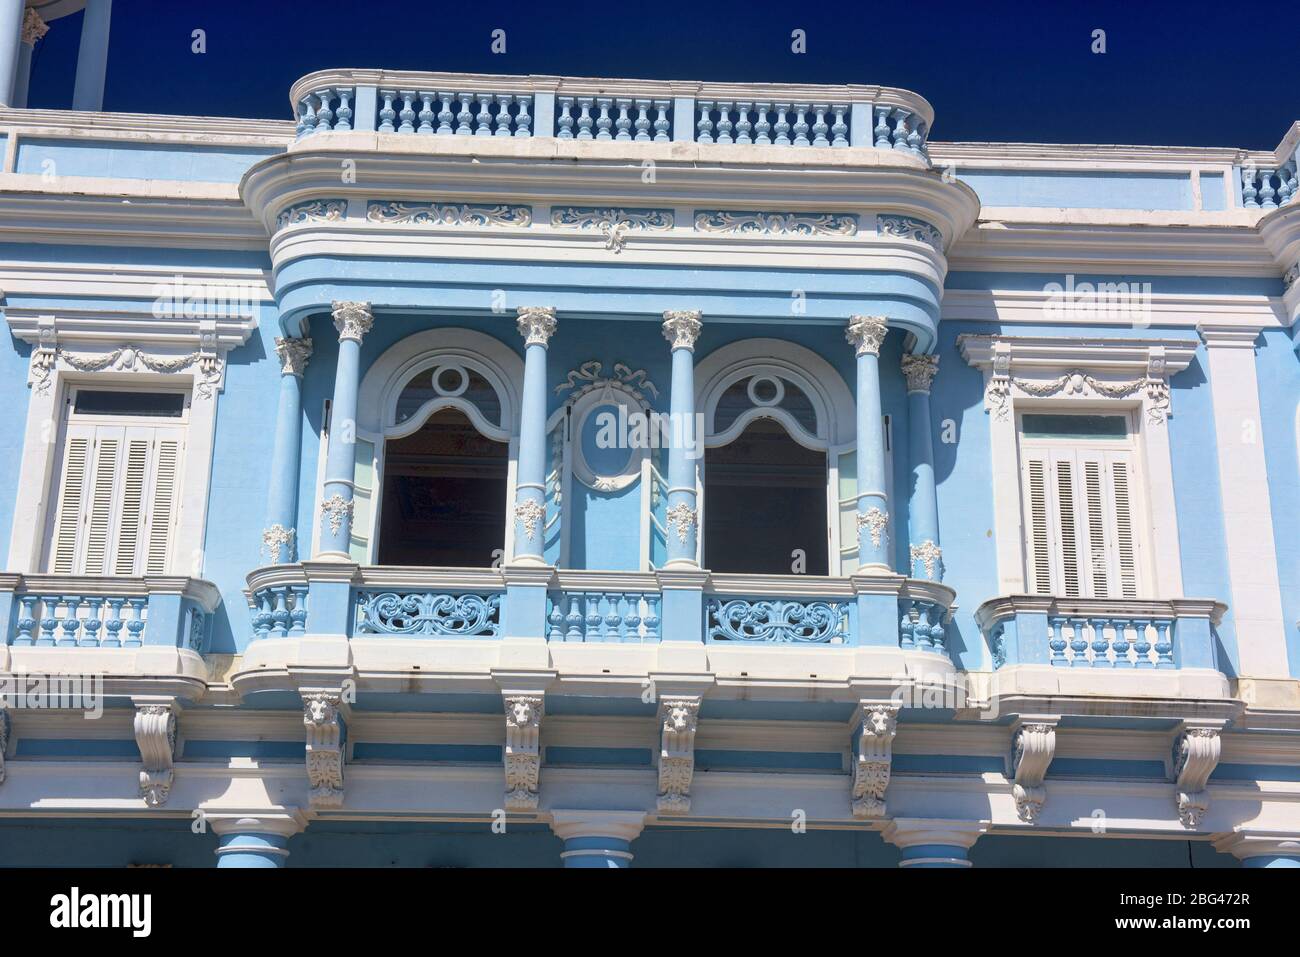
[[[455,395],[439,395],[426,402],[415,415],[400,425],[395,424],[398,397],[402,389],[420,372],[433,367],[456,365],[473,369],[495,389],[500,399],[500,424],[493,425],[469,402]],[[473,329],[445,328],[424,329],[407,335],[390,346],[376,359],[358,391],[356,437],[359,441],[374,445],[374,488],[372,489],[374,507],[370,508],[370,523],[358,532],[368,544],[368,560],[374,562],[378,542],[376,529],[380,528],[380,510],[384,498],[384,450],[385,439],[400,438],[417,430],[430,415],[441,408],[458,408],[464,412],[476,429],[484,436],[507,443],[508,473],[506,477],[506,514],[515,501],[515,475],[519,463],[519,411],[520,385],[524,381],[524,360],[499,339]],[[324,437],[322,437],[324,438]],[[316,502],[312,515],[320,515],[321,494],[325,485],[326,442],[321,442],[316,459]],[[512,521],[506,523],[506,554],[514,550]],[[312,525],[312,554],[318,550],[320,523]]]

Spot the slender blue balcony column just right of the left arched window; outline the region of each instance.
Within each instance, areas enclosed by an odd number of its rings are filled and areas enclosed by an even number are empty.
[[[515,480],[515,562],[546,564],[546,346],[555,334],[555,308],[520,306],[524,337],[524,399],[519,413]]]

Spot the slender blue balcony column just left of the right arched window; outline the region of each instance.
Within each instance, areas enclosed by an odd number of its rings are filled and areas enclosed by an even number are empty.
[[[663,313],[663,334],[672,343],[672,390],[668,419],[668,560],[666,568],[698,568],[699,507],[697,473],[703,434],[696,428],[696,339],[699,312]]]

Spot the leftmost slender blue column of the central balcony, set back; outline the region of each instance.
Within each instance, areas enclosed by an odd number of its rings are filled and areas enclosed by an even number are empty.
[[[303,372],[312,341],[276,338],[280,356],[280,404],[276,411],[276,447],[270,452],[270,493],[261,547],[272,564],[292,562],[298,537],[298,468],[303,443]]]

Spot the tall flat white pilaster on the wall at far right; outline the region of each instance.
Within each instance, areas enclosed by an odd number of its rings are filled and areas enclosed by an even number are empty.
[[[1209,365],[1227,546],[1228,605],[1243,677],[1290,677],[1254,368],[1260,328],[1200,326]]]

